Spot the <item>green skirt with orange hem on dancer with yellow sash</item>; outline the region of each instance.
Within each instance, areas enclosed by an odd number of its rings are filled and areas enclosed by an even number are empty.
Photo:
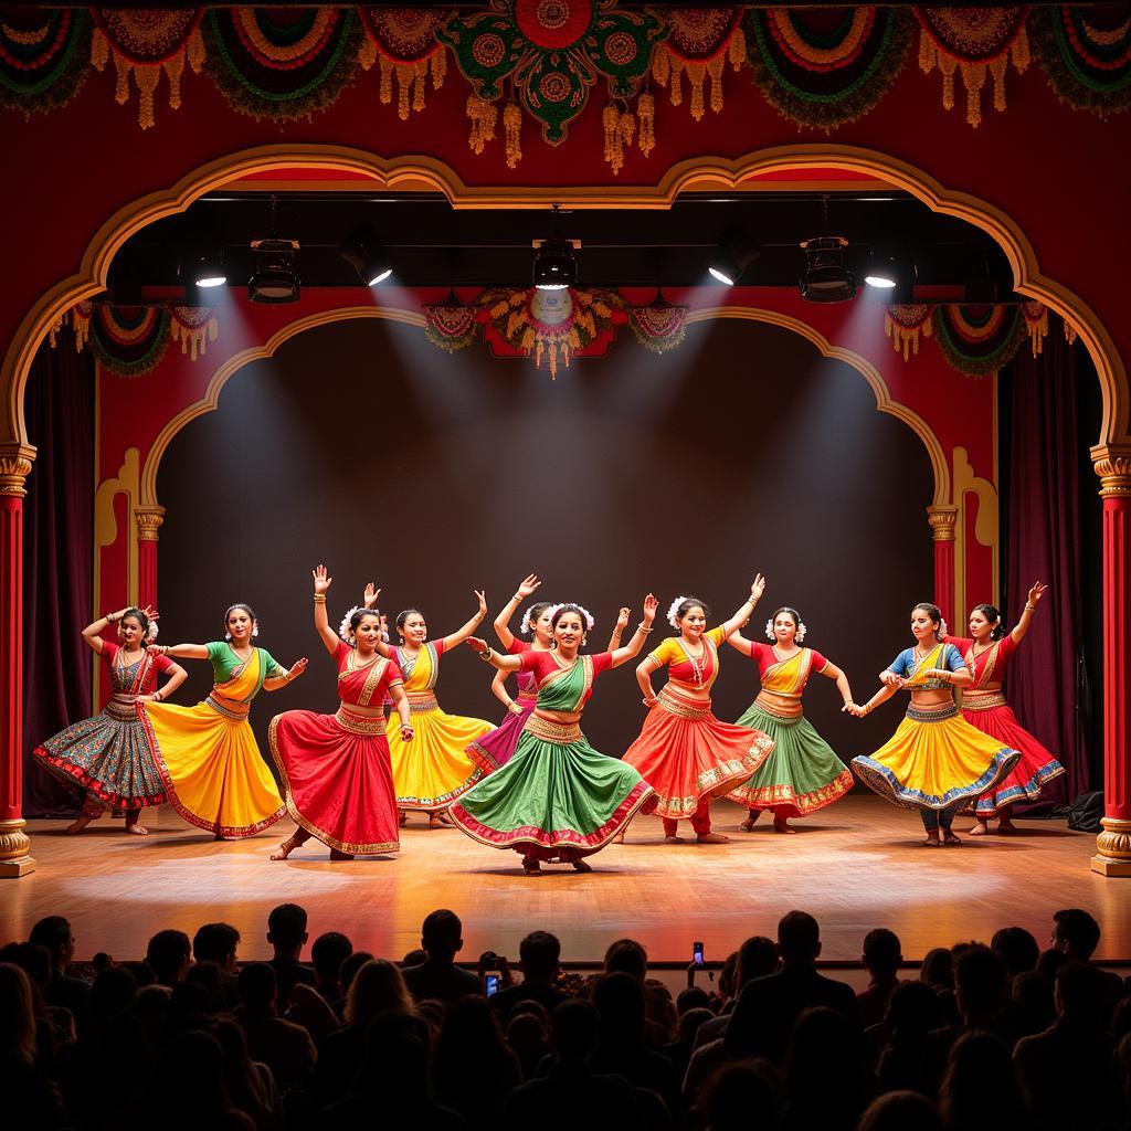
[[[748,809],[775,809],[780,817],[804,817],[852,789],[852,770],[804,715],[782,718],[753,703],[737,725],[765,731],[774,749],[753,777],[727,794],[731,801]]]

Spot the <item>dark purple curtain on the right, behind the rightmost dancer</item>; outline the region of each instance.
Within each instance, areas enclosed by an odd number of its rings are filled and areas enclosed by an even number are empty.
[[[1063,804],[1089,788],[1083,711],[1088,699],[1081,601],[1077,359],[1059,319],[1034,357],[1013,362],[1009,412],[1007,627],[1017,623],[1034,581],[1048,593],[1010,662],[1010,706],[1067,772],[1037,804]],[[1090,374],[1080,373],[1081,380]]]

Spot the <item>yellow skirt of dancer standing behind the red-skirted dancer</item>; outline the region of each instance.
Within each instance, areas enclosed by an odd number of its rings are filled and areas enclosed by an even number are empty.
[[[397,808],[447,809],[467,793],[483,777],[483,770],[467,757],[466,748],[494,727],[482,718],[448,715],[431,707],[413,711],[413,741],[403,742],[400,719],[394,711],[386,735]]]

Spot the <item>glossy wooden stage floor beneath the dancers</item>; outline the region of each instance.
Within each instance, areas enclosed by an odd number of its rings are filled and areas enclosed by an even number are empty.
[[[80,958],[105,950],[144,955],[150,934],[179,927],[190,936],[222,920],[243,941],[241,959],[269,955],[267,913],[284,901],[310,912],[310,938],[344,931],[356,949],[399,958],[417,946],[423,917],[450,907],[464,921],[473,960],[483,950],[517,957],[528,931],[553,931],[562,957],[597,959],[630,935],[655,960],[683,961],[692,939],[708,960],[722,959],[751,934],[772,936],[782,914],[811,912],[821,924],[823,958],[858,959],[865,932],[888,926],[904,955],[918,959],[962,939],[986,942],[1018,924],[1044,946],[1060,907],[1083,907],[1100,922],[1099,955],[1131,958],[1131,880],[1088,870],[1095,837],[1062,821],[1022,822],[1016,837],[967,837],[961,848],[917,847],[916,814],[879,798],[851,796],[809,820],[798,835],[776,836],[770,822],[736,831],[741,810],[713,810],[728,845],[664,845],[659,821],[639,818],[628,843],[594,857],[592,875],[554,865],[524,877],[513,853],[483,847],[457,829],[429,831],[413,814],[399,856],[330,863],[311,840],[286,863],[270,851],[288,820],[238,843],[217,844],[169,808],[149,814],[153,835],[128,837],[121,821],[102,821],[78,837],[64,821],[32,821],[36,871],[0,880],[0,940],[26,939],[44,915],[67,915]],[[956,823],[961,831],[970,823]],[[682,826],[681,826],[682,831]],[[690,832],[690,829],[688,830]]]

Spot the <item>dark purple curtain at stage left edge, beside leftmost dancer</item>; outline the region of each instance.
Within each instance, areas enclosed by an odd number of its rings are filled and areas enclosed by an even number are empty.
[[[94,362],[69,331],[44,343],[27,382],[36,447],[24,500],[24,814],[77,811],[78,798],[32,751],[90,714],[94,553]]]

